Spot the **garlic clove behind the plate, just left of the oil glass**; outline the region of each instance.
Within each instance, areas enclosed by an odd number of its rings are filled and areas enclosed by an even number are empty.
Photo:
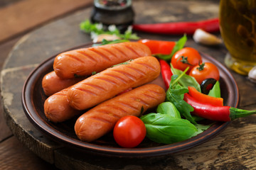
[[[223,40],[217,36],[210,34],[200,28],[196,29],[195,33],[193,34],[193,40],[203,45],[219,45],[223,42]]]

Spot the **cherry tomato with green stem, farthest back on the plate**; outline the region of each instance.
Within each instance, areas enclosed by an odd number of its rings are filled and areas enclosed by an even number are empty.
[[[202,57],[199,52],[192,47],[184,47],[181,50],[175,52],[174,56],[171,57],[171,64],[175,69],[181,69],[184,71],[187,67],[188,73],[192,67],[202,62]]]

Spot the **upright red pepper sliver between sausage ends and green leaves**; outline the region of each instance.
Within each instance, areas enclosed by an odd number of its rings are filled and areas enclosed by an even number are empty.
[[[169,89],[171,76],[173,75],[171,72],[171,66],[165,61],[159,59],[160,66],[161,66],[161,75],[164,80],[164,84],[166,85],[166,89]]]

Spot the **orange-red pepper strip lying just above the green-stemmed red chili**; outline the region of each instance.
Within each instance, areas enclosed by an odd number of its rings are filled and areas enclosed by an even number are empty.
[[[213,96],[202,94],[201,92],[197,91],[196,88],[194,88],[193,86],[188,86],[188,94],[203,103],[210,103],[214,106],[223,106],[223,98],[215,98]]]

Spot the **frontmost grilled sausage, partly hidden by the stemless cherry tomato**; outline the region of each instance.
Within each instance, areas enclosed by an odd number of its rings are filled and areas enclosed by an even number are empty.
[[[137,87],[82,114],[75,123],[75,133],[80,140],[92,142],[110,132],[119,118],[139,116],[142,111],[164,102],[165,97],[164,89],[156,84]]]

